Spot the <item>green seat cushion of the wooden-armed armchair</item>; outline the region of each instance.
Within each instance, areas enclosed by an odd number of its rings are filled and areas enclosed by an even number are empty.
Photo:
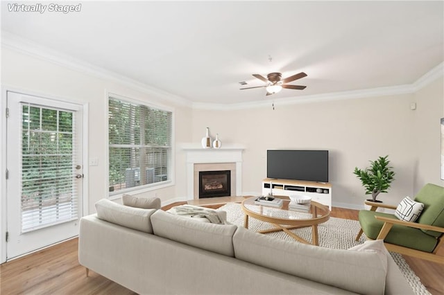
[[[376,220],[375,216],[398,220],[395,215],[389,213],[368,210],[359,211],[359,224],[361,224],[361,229],[366,236],[372,240],[376,240],[379,231],[381,231],[382,226],[384,225],[384,222]],[[431,235],[423,233],[420,229],[394,224],[390,231],[388,231],[384,242],[398,244],[403,247],[420,251],[432,252],[436,247],[437,240]]]

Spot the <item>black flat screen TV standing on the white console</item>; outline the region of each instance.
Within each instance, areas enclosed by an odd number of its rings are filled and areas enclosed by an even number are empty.
[[[328,182],[328,151],[267,150],[266,177]]]

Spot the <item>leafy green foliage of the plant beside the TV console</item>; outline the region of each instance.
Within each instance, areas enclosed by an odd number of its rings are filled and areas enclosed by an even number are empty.
[[[395,180],[395,172],[393,167],[388,166],[388,155],[386,157],[379,157],[376,161],[370,161],[370,167],[361,170],[355,167],[355,174],[362,182],[364,188],[366,188],[366,195],[372,195],[372,199],[368,201],[381,202],[376,199],[379,193],[387,193],[388,188],[391,186],[391,182]]]

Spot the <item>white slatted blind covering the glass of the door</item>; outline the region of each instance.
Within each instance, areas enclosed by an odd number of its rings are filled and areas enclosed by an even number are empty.
[[[71,111],[22,104],[22,233],[76,220]]]

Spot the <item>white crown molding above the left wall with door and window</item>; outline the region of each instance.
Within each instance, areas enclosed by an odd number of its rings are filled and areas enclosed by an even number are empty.
[[[137,80],[133,80],[124,75],[119,75],[118,73],[115,73],[113,71],[108,71],[99,66],[94,66],[93,64],[89,64],[88,62],[84,62],[83,60],[78,60],[70,55],[65,55],[58,51],[54,51],[51,48],[42,46],[35,42],[31,42],[28,39],[18,37],[17,35],[5,32],[3,30],[1,31],[1,46],[25,55],[36,57],[40,60],[52,62],[53,64],[73,69],[80,73],[92,75],[96,78],[106,79],[112,82],[123,84],[130,89],[153,95],[157,98],[168,100],[169,102],[172,102],[176,105],[192,107],[191,102],[185,98],[181,98],[180,96],[176,96],[167,91],[151,87],[147,84],[144,84]]]

